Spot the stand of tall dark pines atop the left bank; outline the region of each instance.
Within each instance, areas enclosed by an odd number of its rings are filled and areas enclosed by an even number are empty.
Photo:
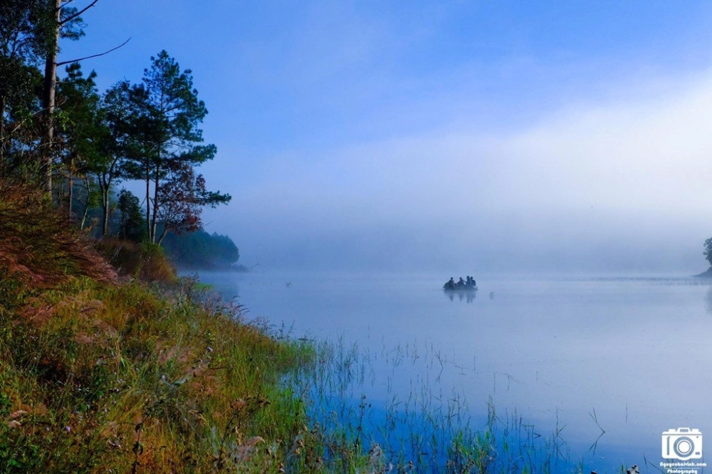
[[[204,207],[231,196],[209,190],[197,172],[216,156],[201,130],[208,110],[192,71],[167,51],[147,59],[140,82],[103,91],[81,61],[110,51],[58,61],[97,2],[0,5],[0,178],[41,189],[96,238],[161,244],[201,229]]]

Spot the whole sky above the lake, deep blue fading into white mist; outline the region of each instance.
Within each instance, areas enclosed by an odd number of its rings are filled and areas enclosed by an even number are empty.
[[[61,58],[191,68],[244,263],[703,270],[712,4],[115,1]],[[457,267],[457,268],[456,268]],[[464,273],[467,273],[463,270]],[[450,272],[451,273],[451,272]]]

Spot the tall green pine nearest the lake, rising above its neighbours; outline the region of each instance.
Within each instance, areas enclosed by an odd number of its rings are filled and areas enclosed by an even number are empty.
[[[213,159],[216,148],[200,144],[199,124],[208,111],[193,88],[192,71],[181,72],[166,51],[151,57],[151,67],[144,70],[142,83],[132,86],[130,97],[133,136],[140,152],[127,170],[131,177],[145,181],[148,238],[156,242],[159,210],[166,196],[160,190],[162,182],[172,170]]]

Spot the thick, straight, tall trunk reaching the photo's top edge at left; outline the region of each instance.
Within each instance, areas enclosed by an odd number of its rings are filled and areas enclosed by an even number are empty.
[[[59,27],[60,11],[62,0],[48,0],[55,11],[55,26],[53,31],[53,45],[51,53],[45,61],[45,78],[42,90],[42,114],[43,114],[43,137],[41,142],[40,156],[40,181],[43,191],[52,195],[52,161],[53,161],[53,141],[54,141],[54,105],[55,92],[57,88],[57,51],[59,48]]]

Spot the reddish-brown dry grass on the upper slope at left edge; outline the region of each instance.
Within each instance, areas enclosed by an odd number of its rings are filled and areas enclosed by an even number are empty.
[[[28,185],[0,179],[0,275],[36,288],[70,276],[117,280],[88,238]]]

